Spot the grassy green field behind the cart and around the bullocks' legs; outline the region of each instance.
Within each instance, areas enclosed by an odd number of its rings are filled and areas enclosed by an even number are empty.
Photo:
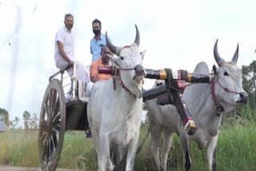
[[[256,170],[256,122],[230,119],[222,122],[219,129],[217,146],[217,170]],[[141,129],[141,140],[146,136],[147,126]],[[135,159],[134,170],[157,170],[150,150],[150,136],[142,152]],[[178,136],[168,157],[168,170],[182,170],[182,153]],[[206,149],[199,150],[194,141],[190,141],[192,166],[190,170],[208,170]],[[36,131],[7,131],[0,133],[0,165],[38,167],[38,133]],[[84,132],[65,133],[59,168],[97,170],[94,144],[85,138]]]

